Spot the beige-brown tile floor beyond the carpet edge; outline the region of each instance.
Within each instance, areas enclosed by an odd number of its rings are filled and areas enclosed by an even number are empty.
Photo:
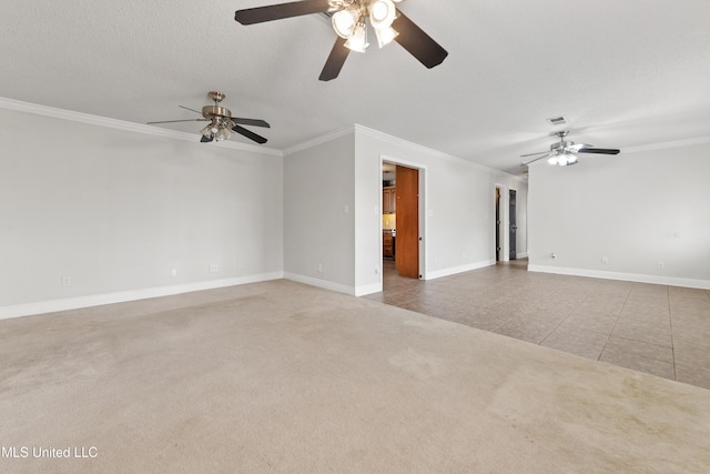
[[[527,260],[430,281],[384,261],[365,297],[710,389],[710,291],[527,271]]]

